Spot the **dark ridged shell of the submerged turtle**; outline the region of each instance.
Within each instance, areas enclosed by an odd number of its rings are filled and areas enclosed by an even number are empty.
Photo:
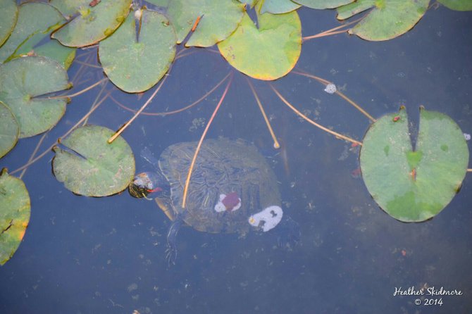
[[[169,146],[161,154],[159,168],[170,184],[170,206],[187,225],[202,232],[246,233],[248,218],[272,205],[280,206],[273,170],[256,147],[238,139],[205,140],[197,156],[182,208],[187,172],[197,142]],[[217,212],[220,195],[236,192],[241,207]],[[232,194],[234,195],[234,193]]]

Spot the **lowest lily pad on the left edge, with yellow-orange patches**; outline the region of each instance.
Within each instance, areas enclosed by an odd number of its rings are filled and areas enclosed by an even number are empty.
[[[0,265],[20,246],[30,222],[30,195],[22,180],[0,173]]]

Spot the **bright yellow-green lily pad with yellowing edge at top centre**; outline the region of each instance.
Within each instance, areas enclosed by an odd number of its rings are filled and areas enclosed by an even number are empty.
[[[257,18],[259,29],[244,13],[240,26],[218,44],[218,49],[240,72],[259,80],[276,80],[289,73],[298,61],[302,25],[296,11],[257,13]]]

